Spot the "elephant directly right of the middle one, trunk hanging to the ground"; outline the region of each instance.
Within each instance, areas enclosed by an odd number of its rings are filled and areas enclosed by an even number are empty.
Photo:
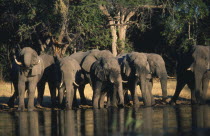
[[[145,106],[155,104],[151,91],[148,90],[148,81],[151,79],[149,63],[144,53],[132,52],[118,57],[121,65],[121,74],[124,81],[124,89],[129,89],[133,98],[134,107],[139,107],[139,99],[136,91],[137,85],[140,85],[143,102]],[[127,96],[126,96],[127,97]]]

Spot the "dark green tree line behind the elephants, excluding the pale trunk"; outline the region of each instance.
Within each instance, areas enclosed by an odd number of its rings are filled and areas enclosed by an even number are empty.
[[[111,49],[109,19],[99,4],[109,4],[111,15],[118,7],[135,9],[124,51],[162,55],[170,76],[175,76],[179,53],[193,44],[210,43],[209,0],[0,0],[0,79],[10,80],[14,48],[31,46],[39,51],[38,40],[47,34],[59,40],[65,20],[71,42],[68,38],[61,42],[69,43],[67,54],[74,48]],[[163,6],[142,9],[142,5]]]

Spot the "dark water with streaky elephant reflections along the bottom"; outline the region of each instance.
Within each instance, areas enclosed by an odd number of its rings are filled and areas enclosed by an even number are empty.
[[[79,109],[0,113],[0,135],[208,135],[210,107]]]

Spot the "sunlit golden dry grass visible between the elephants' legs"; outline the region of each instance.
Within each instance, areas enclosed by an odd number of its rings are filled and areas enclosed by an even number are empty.
[[[170,100],[170,97],[173,96],[174,91],[175,91],[175,87],[176,87],[176,80],[175,79],[170,79],[168,80],[168,96]],[[11,84],[10,83],[5,83],[5,82],[0,82],[0,103],[7,101],[8,98],[10,96],[12,96],[14,92],[14,88],[13,91],[11,91]],[[138,87],[138,93],[141,96],[141,92],[139,90]],[[36,94],[37,95],[37,94]],[[49,93],[49,88],[46,85],[46,89],[45,89],[45,96],[50,97],[50,93]],[[92,99],[92,95],[93,95],[93,91],[92,88],[90,87],[90,85],[86,85],[85,87],[85,96],[87,99],[91,100]],[[161,91],[161,86],[160,86],[160,82],[158,79],[154,80],[154,86],[153,86],[153,95],[155,96],[156,99],[159,99],[159,97],[162,96],[162,91]],[[208,89],[208,98],[210,98],[210,87]],[[77,98],[79,98],[79,93],[77,92]],[[191,99],[191,94],[190,94],[190,90],[187,86],[184,87],[184,89],[182,90],[182,92],[180,93],[179,99],[184,100],[184,99]]]

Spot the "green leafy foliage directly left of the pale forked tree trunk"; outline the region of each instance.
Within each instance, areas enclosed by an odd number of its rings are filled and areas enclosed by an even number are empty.
[[[79,35],[77,48],[110,48],[111,37],[107,21],[97,3],[83,0],[79,4],[71,5],[69,20],[70,32]]]

